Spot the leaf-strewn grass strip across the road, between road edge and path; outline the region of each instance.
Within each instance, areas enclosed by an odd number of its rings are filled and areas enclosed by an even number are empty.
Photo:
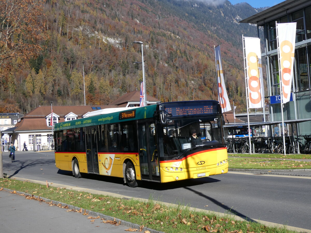
[[[311,169],[311,162],[265,158],[228,158],[229,168],[236,169]]]

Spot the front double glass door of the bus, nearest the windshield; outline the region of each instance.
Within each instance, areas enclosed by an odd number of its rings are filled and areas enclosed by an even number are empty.
[[[138,121],[138,142],[142,180],[160,181],[156,128],[153,121]]]

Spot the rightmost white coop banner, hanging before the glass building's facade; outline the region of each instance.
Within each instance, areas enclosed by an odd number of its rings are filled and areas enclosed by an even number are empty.
[[[295,58],[296,23],[276,24],[283,103],[290,101]]]

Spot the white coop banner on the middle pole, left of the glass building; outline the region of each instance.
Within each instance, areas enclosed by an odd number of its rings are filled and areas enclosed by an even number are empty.
[[[249,108],[264,107],[260,39],[244,37]]]

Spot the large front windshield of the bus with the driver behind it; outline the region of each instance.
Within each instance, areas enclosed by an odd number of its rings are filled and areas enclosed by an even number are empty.
[[[214,117],[170,118],[163,128],[164,158],[160,159],[179,159],[193,150],[223,147],[221,126]]]

